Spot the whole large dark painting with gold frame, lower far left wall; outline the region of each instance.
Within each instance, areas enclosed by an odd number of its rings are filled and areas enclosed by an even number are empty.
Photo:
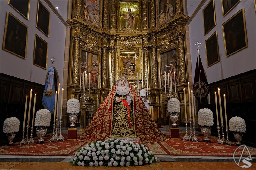
[[[26,59],[27,37],[28,27],[8,11],[5,21],[2,49],[20,58]]]

